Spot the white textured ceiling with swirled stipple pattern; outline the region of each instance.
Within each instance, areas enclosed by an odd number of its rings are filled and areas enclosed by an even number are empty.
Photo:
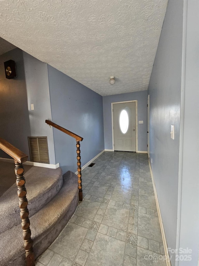
[[[146,90],[167,2],[1,0],[0,36],[101,95]]]

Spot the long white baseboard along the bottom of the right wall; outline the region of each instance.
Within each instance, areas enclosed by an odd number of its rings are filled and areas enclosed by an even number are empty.
[[[152,182],[153,182],[153,189],[154,189],[154,193],[155,193],[156,206],[157,206],[157,210],[158,210],[158,217],[159,217],[159,222],[160,222],[160,229],[161,229],[161,234],[162,234],[164,253],[165,253],[165,256],[166,256],[166,265],[167,266],[171,266],[171,261],[170,261],[170,257],[169,257],[168,246],[167,246],[167,240],[166,240],[166,235],[165,235],[165,232],[164,232],[164,225],[163,225],[163,222],[162,222],[162,216],[161,216],[161,212],[160,212],[160,205],[159,205],[159,202],[158,202],[158,196],[157,196],[157,192],[156,192],[156,188],[155,188],[155,182],[154,182],[154,179],[153,179],[153,172],[152,172],[150,160],[149,160],[149,167],[150,167],[150,173],[151,173]]]

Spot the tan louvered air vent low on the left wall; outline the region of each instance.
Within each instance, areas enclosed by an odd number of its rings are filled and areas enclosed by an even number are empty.
[[[30,161],[49,163],[47,137],[28,137]]]

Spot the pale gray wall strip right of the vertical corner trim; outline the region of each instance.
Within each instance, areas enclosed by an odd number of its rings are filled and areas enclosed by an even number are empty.
[[[199,247],[199,2],[187,2],[186,71],[183,130],[182,202],[180,243],[192,249],[192,261],[179,265],[198,265]]]

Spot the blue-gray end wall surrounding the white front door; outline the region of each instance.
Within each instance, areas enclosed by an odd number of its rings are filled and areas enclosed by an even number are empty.
[[[113,149],[111,103],[137,100],[137,120],[143,120],[138,123],[138,151],[147,151],[147,97],[147,90],[103,97],[105,149]]]

